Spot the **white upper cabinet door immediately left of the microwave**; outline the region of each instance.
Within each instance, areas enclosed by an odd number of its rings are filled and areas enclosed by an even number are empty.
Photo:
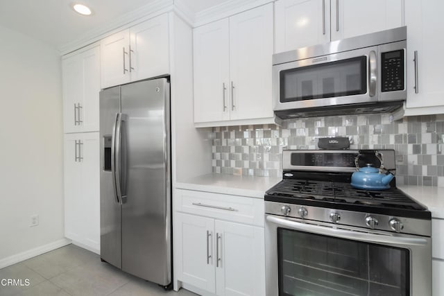
[[[230,17],[230,119],[273,116],[273,3]]]

